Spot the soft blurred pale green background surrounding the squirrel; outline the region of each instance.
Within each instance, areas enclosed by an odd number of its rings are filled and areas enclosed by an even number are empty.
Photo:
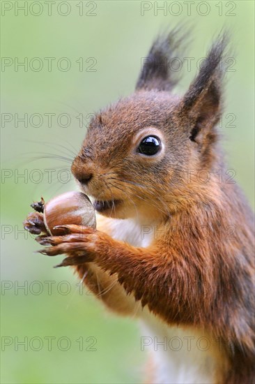
[[[157,10],[164,3],[167,10]],[[141,57],[158,31],[191,20],[192,43],[183,56],[196,62],[212,36],[224,25],[231,29],[236,63],[227,74],[220,130],[229,168],[254,205],[254,2],[203,3],[196,1],[187,15],[183,1],[54,1],[48,15],[47,2],[28,1],[24,15],[17,8],[24,1],[1,1],[4,63],[28,60],[27,71],[15,70],[14,64],[1,69],[1,383],[142,381],[146,353],[137,323],[107,313],[95,297],[81,292],[70,269],[53,269],[61,258],[33,253],[38,244],[22,231],[22,221],[41,195],[47,200],[77,188],[64,170],[84,138],[80,114],[87,124],[89,114],[133,91]],[[141,7],[148,8],[144,15]],[[31,61],[35,57],[41,61]],[[52,71],[45,57],[56,58]],[[63,71],[67,61],[59,62],[63,57],[71,64],[69,71]],[[40,63],[41,70],[33,71]],[[196,73],[194,64],[187,72],[183,63],[181,92]],[[51,113],[52,126],[45,115]],[[24,114],[27,126],[17,120]],[[24,290],[18,289],[22,285]],[[49,337],[55,337],[52,348]],[[24,338],[27,350],[18,344]]]

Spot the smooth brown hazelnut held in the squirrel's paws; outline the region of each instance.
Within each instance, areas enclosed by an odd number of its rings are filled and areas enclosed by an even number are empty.
[[[63,235],[55,226],[75,224],[95,228],[95,209],[82,192],[66,192],[49,200],[44,207],[43,220],[49,235]]]

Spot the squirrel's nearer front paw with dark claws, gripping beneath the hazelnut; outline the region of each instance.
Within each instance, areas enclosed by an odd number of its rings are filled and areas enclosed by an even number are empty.
[[[58,230],[68,235],[37,237],[36,241],[47,246],[45,249],[38,251],[47,256],[56,256],[66,253],[68,258],[56,267],[64,267],[67,265],[81,265],[95,260],[95,244],[100,233],[93,228],[84,226],[57,226]]]

